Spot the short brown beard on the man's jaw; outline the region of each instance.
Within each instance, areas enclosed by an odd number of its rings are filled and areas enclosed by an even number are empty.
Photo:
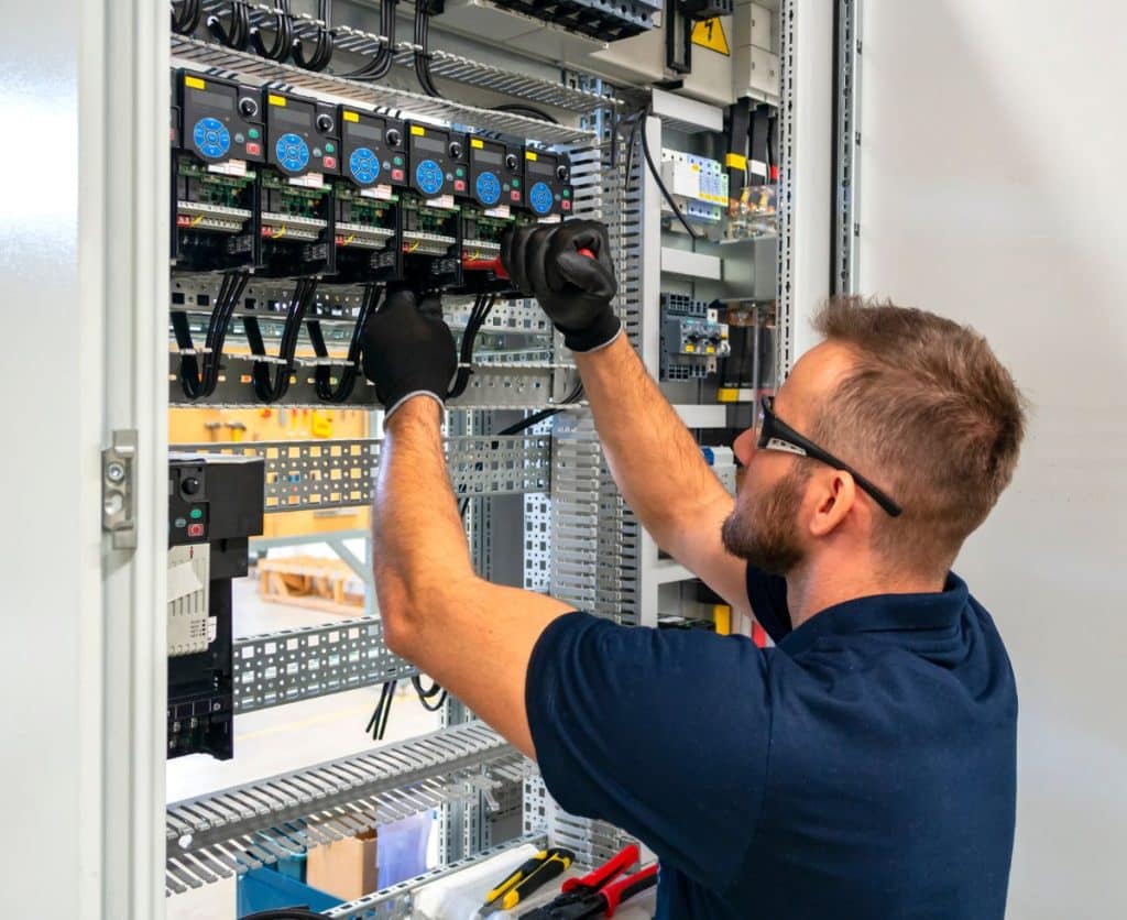
[[[728,552],[771,575],[787,575],[799,565],[806,550],[798,539],[798,510],[808,479],[791,470],[769,492],[737,498],[720,530]]]

